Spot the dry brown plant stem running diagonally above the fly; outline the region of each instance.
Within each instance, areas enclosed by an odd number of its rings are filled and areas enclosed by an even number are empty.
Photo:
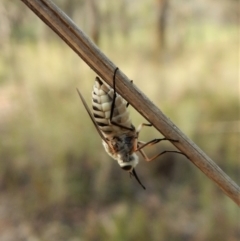
[[[112,76],[116,66],[65,13],[49,0],[21,1],[55,31],[106,83],[112,86]],[[186,154],[194,165],[240,206],[240,188],[238,185],[187,138],[121,71],[118,71],[116,75],[116,89],[165,137],[179,140],[172,142],[172,144]]]

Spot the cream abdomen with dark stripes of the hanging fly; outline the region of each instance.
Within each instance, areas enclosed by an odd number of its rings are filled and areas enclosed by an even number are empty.
[[[106,136],[129,132],[128,129],[113,125],[110,121],[113,96],[113,89],[96,77],[92,91],[93,116],[99,129]],[[127,128],[134,128],[126,108],[126,101],[118,94],[116,94],[112,121]]]

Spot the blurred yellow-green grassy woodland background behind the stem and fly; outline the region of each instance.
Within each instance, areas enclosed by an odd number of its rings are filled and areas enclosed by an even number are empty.
[[[240,184],[238,0],[54,2]],[[1,241],[240,240],[239,208],[186,158],[141,160],[144,191],[107,156],[76,92],[90,104],[95,73],[21,1],[0,2],[0,52]]]

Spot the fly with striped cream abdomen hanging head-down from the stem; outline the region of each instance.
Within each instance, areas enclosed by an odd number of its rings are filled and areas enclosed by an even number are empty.
[[[106,152],[118,162],[120,167],[128,171],[130,176],[134,176],[138,183],[145,189],[144,185],[139,180],[135,168],[139,162],[136,152],[140,152],[146,161],[152,161],[166,152],[178,151],[163,151],[152,158],[148,158],[143,148],[154,145],[162,140],[176,142],[177,140],[159,138],[149,142],[138,140],[139,133],[144,126],[152,126],[152,124],[142,123],[137,129],[132,124],[127,103],[119,94],[116,93],[115,77],[118,68],[115,69],[113,75],[113,88],[103,83],[99,77],[96,77],[92,91],[92,113],[77,89],[80,99],[83,102],[98,134],[102,138],[102,144]]]

